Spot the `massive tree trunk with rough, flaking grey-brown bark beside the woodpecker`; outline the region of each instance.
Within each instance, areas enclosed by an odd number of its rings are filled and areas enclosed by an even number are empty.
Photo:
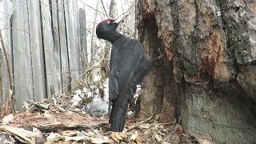
[[[217,143],[256,141],[256,2],[138,0],[147,54],[166,52],[144,80],[141,118],[161,111],[188,134]],[[158,99],[157,101],[155,99]]]

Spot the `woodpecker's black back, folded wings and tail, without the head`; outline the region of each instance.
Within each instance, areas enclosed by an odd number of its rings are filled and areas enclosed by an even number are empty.
[[[138,84],[134,80],[143,59],[142,44],[130,38],[114,42],[110,58],[111,130],[122,131],[128,104]]]

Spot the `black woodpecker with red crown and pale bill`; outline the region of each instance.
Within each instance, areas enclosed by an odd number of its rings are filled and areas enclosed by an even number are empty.
[[[144,54],[141,42],[116,31],[121,20],[106,19],[96,28],[98,38],[112,43],[109,75],[110,131],[123,130],[128,104],[137,85],[153,66],[153,62]]]

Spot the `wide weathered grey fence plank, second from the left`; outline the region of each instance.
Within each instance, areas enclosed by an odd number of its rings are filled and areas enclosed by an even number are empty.
[[[34,98],[26,0],[14,1],[14,8],[12,29],[14,96],[18,107],[21,107],[22,102]]]

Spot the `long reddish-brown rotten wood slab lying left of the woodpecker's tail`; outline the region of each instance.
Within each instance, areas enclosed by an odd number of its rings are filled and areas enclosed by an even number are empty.
[[[51,109],[58,110],[52,107]],[[83,117],[69,111],[57,113],[20,113],[8,125],[16,127],[38,128],[41,131],[49,132],[56,130],[85,130],[86,128],[96,128],[107,126],[106,118]]]

